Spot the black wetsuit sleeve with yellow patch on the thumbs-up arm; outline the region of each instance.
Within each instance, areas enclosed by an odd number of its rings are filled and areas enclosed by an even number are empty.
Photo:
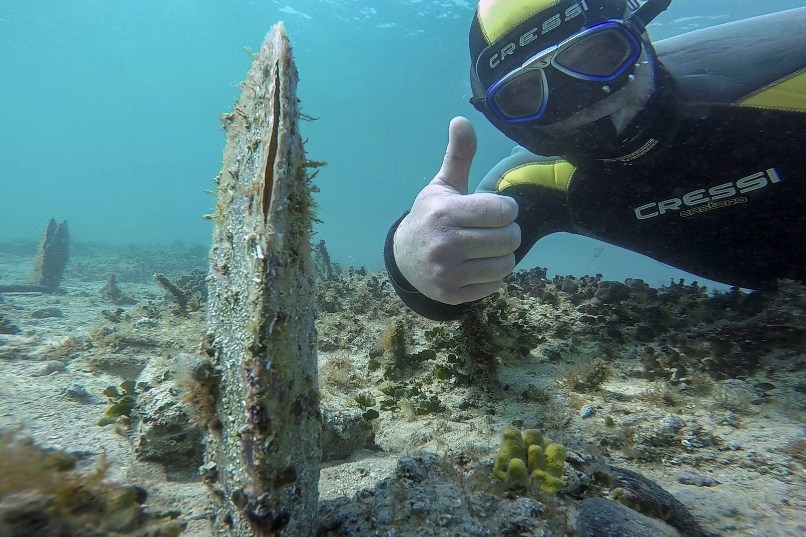
[[[538,239],[555,231],[571,230],[566,191],[574,168],[563,159],[534,155],[516,147],[512,155],[501,160],[481,180],[476,192],[511,196],[518,204],[516,222],[521,226],[521,246],[515,251],[517,262]],[[431,320],[455,320],[462,315],[463,304],[442,304],[429,299],[401,274],[394,258],[394,234],[402,217],[392,225],[384,244],[384,265],[392,285],[403,302]]]

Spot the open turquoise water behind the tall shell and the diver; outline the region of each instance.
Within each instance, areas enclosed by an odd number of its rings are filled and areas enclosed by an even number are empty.
[[[675,0],[655,39],[802,0]],[[284,20],[301,72],[312,159],[326,160],[318,237],[335,261],[381,266],[391,222],[438,170],[447,122],[479,135],[471,182],[512,143],[467,104],[462,0],[0,0],[0,242],[35,240],[49,217],[83,242],[206,244],[224,147],[218,114],[238,96],[269,27]],[[682,275],[560,234],[521,266],[649,283]]]

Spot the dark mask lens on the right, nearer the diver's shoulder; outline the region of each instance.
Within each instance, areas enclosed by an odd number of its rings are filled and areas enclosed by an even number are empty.
[[[555,56],[555,64],[578,75],[608,79],[621,74],[638,53],[637,43],[625,31],[610,28],[571,43]]]

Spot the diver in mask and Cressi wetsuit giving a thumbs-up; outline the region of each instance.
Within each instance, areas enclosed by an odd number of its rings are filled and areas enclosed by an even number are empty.
[[[737,287],[806,281],[806,7],[651,43],[671,0],[481,0],[472,105],[517,143],[475,193],[476,134],[389,230],[422,316],[492,294],[566,231]]]

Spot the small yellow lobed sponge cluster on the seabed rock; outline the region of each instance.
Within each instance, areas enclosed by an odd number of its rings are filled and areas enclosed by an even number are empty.
[[[565,486],[565,455],[565,446],[549,442],[537,429],[521,432],[508,427],[504,429],[492,473],[513,485],[534,481],[543,492],[554,494]]]

